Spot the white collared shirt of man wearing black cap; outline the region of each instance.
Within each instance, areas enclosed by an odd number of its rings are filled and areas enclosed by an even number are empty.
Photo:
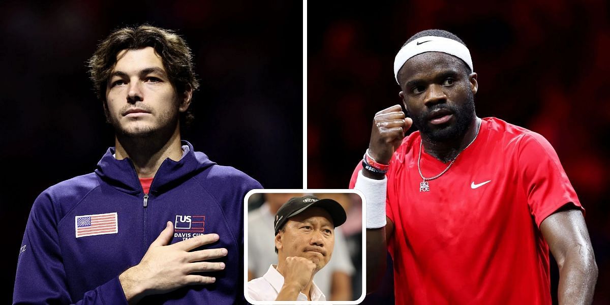
[[[248,282],[248,296],[254,301],[275,301],[283,285],[284,276],[275,269],[275,265],[271,265],[262,278]],[[326,296],[314,282],[312,282],[309,294],[312,301],[326,301]],[[299,292],[296,301],[308,301],[307,296],[303,292]]]

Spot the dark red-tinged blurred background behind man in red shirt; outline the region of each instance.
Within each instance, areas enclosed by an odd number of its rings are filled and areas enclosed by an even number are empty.
[[[401,102],[394,56],[420,30],[449,30],[472,54],[478,116],[536,131],[558,152],[586,208],[594,304],[610,304],[609,14],[602,0],[309,2],[307,187],[348,187],[373,116]]]

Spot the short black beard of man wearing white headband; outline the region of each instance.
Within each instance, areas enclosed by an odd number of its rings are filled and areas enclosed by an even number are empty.
[[[435,109],[449,109],[454,113],[456,117],[456,123],[440,127],[439,129],[432,129],[427,124],[428,120],[426,117],[428,114]],[[413,124],[420,131],[423,137],[428,138],[431,142],[447,142],[448,140],[455,140],[463,137],[468,131],[468,127],[473,120],[475,120],[475,97],[472,91],[468,90],[468,101],[462,108],[456,106],[450,106],[448,104],[436,104],[428,109],[426,112],[420,113],[418,117],[412,117]]]

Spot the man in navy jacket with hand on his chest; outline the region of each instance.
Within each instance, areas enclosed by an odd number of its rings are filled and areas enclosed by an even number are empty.
[[[13,303],[242,303],[243,199],[262,187],[181,140],[198,87],[185,41],[117,30],[90,73],[116,147],[34,202]]]

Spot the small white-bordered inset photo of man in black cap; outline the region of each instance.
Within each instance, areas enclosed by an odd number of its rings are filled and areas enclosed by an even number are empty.
[[[364,196],[252,190],[245,198],[244,295],[251,304],[364,300]]]

